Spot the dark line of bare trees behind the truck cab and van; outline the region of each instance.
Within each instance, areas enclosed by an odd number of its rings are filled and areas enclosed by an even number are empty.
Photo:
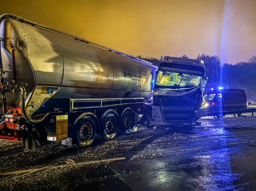
[[[155,57],[137,57],[149,61],[155,66],[158,66],[160,62]],[[186,54],[180,57],[189,58]],[[211,56],[206,53],[199,54],[196,59],[204,61],[206,77],[208,78],[206,89],[218,86],[240,89],[243,88],[244,84],[251,85],[256,83],[256,55],[248,59],[247,62],[239,62],[234,65],[221,64],[219,56]]]

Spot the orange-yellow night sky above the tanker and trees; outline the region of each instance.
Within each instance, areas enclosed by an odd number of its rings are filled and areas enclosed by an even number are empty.
[[[256,55],[255,0],[4,1],[12,13],[132,56]]]

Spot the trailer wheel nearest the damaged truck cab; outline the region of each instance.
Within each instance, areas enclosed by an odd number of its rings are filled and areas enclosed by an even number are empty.
[[[128,135],[132,132],[135,126],[135,117],[131,108],[126,108],[120,118],[121,128],[118,132],[122,135]]]

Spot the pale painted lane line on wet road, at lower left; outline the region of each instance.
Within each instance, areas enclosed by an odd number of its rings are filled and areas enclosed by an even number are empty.
[[[115,160],[125,160],[125,159],[126,158],[121,157],[121,158],[113,158],[113,159],[94,160],[94,161],[89,161],[89,162],[80,162],[80,163],[75,163],[75,164],[73,162],[70,162],[72,159],[68,159],[67,161],[65,161],[65,162],[67,162],[67,164],[62,164],[62,165],[52,166],[52,167],[33,168],[33,169],[27,169],[27,170],[22,170],[22,171],[4,172],[4,173],[0,173],[0,176],[9,175],[9,174],[27,173],[27,172],[37,172],[37,171],[48,170],[50,168],[61,168],[63,166],[68,166],[68,165],[79,166],[79,165],[83,165],[83,164],[104,163],[104,162],[111,162],[111,161],[115,161]],[[74,160],[72,160],[72,161],[74,161]]]

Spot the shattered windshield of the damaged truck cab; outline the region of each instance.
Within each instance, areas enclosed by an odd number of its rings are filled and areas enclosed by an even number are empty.
[[[205,87],[206,81],[207,80],[203,76],[169,71],[159,71],[156,77],[156,85],[175,88]]]

